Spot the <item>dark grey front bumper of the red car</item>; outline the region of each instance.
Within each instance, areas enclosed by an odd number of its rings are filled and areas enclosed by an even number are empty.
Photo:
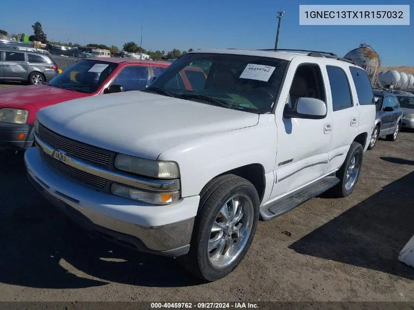
[[[19,134],[26,135],[19,140]],[[0,121],[0,150],[23,151],[33,145],[32,124],[12,124]]]

